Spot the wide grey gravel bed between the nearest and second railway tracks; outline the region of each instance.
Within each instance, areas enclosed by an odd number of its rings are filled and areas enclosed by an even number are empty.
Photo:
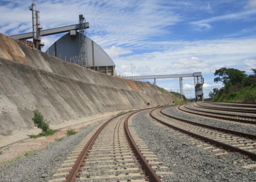
[[[245,156],[234,152],[217,157],[213,152],[189,143],[191,137],[188,135],[177,135],[178,131],[161,125],[159,128],[148,112],[136,114],[132,123],[151,151],[174,173],[164,181],[256,181],[253,169],[241,167],[254,164],[254,161],[249,159],[241,162]],[[237,163],[234,164],[234,161]]]

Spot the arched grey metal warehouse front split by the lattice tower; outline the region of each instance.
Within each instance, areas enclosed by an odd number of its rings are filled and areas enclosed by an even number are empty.
[[[115,63],[109,55],[93,40],[85,37],[87,68],[108,75],[116,75]],[[79,32],[73,31],[63,35],[54,42],[46,51],[55,57],[72,63],[80,61],[80,37]]]

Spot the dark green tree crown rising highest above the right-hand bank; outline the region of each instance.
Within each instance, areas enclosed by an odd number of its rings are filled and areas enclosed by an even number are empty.
[[[224,68],[215,70],[214,76],[218,76],[214,78],[215,83],[222,81],[224,86],[229,86],[229,85],[243,83],[247,75],[245,74],[245,71],[224,67]]]

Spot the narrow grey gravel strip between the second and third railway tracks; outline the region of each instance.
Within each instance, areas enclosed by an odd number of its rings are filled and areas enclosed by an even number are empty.
[[[205,117],[200,117],[200,116],[195,116],[191,114],[186,114],[183,112],[178,111],[177,106],[174,107],[168,107],[166,109],[163,109],[162,112],[165,114],[169,114],[171,116],[177,117],[177,118],[182,118],[185,120],[193,121],[196,123],[202,123],[205,125],[211,125],[219,128],[225,128],[225,129],[230,129],[230,130],[236,130],[240,131],[243,133],[250,133],[250,134],[255,134],[256,133],[256,127],[251,127],[251,126],[244,126],[240,124],[233,124],[233,123],[227,123],[221,120],[213,120],[210,118],[205,118]]]

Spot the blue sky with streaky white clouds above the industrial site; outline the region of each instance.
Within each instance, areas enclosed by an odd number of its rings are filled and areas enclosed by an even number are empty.
[[[87,35],[113,59],[117,74],[160,75],[202,72],[204,96],[213,88],[214,71],[256,68],[256,0],[53,0],[0,1],[0,32],[32,31],[36,3],[43,29],[78,23],[84,14]],[[43,37],[46,50],[61,35]],[[157,80],[179,89],[179,78]],[[194,97],[193,78],[184,78],[184,93]]]

